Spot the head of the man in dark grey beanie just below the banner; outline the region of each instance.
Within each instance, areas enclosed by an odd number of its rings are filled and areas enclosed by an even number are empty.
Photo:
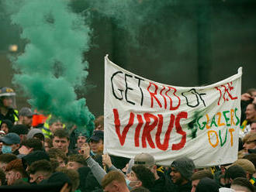
[[[171,163],[171,180],[173,183],[183,185],[188,183],[195,170],[195,164],[192,159],[182,157]]]

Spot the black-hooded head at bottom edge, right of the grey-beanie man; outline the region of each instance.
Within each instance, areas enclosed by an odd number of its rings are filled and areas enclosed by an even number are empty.
[[[209,177],[202,178],[196,187],[195,192],[219,192],[219,185]]]

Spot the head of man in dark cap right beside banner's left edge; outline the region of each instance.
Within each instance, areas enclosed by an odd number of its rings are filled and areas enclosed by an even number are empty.
[[[103,140],[104,140],[104,132],[102,131],[94,131],[89,144],[93,153],[99,153],[103,150]]]

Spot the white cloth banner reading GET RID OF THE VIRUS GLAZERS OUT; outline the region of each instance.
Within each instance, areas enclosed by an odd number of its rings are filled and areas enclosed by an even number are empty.
[[[234,162],[241,76],[240,67],[216,84],[177,87],[132,74],[106,56],[104,153],[150,153],[163,166],[182,156],[196,166]]]

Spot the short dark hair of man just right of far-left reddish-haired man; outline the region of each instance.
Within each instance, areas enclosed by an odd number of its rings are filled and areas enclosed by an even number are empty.
[[[35,161],[29,166],[29,173],[35,174],[38,171],[46,172],[49,174],[53,173],[52,166],[46,159]]]

